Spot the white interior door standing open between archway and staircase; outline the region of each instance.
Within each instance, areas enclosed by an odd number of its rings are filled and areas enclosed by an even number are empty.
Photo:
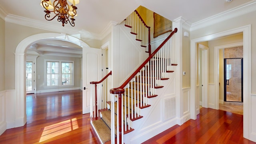
[[[102,50],[83,48],[82,60],[83,114],[90,112],[90,82],[99,81],[102,77]]]

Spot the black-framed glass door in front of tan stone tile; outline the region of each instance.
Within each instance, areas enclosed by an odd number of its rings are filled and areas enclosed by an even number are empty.
[[[243,58],[224,58],[224,101],[243,102]]]

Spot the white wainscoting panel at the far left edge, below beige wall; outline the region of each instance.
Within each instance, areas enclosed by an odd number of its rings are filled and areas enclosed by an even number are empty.
[[[6,91],[0,92],[0,135],[6,130]]]

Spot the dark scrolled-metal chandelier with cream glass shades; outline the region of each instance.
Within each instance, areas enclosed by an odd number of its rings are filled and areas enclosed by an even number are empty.
[[[77,16],[76,4],[79,3],[79,0],[68,0],[71,5],[68,5],[67,0],[54,0],[53,4],[50,0],[41,0],[41,6],[45,8],[44,12],[46,13],[44,18],[46,20],[53,20],[57,17],[58,22],[62,22],[62,26],[64,24],[70,23],[71,26],[75,26],[74,16]],[[54,16],[50,16],[51,12]]]

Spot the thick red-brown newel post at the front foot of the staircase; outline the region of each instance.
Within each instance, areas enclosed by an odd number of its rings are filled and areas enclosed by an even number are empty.
[[[112,88],[110,89],[110,94],[118,95],[118,134],[119,134],[119,144],[122,144],[122,94],[125,90],[123,88]]]

